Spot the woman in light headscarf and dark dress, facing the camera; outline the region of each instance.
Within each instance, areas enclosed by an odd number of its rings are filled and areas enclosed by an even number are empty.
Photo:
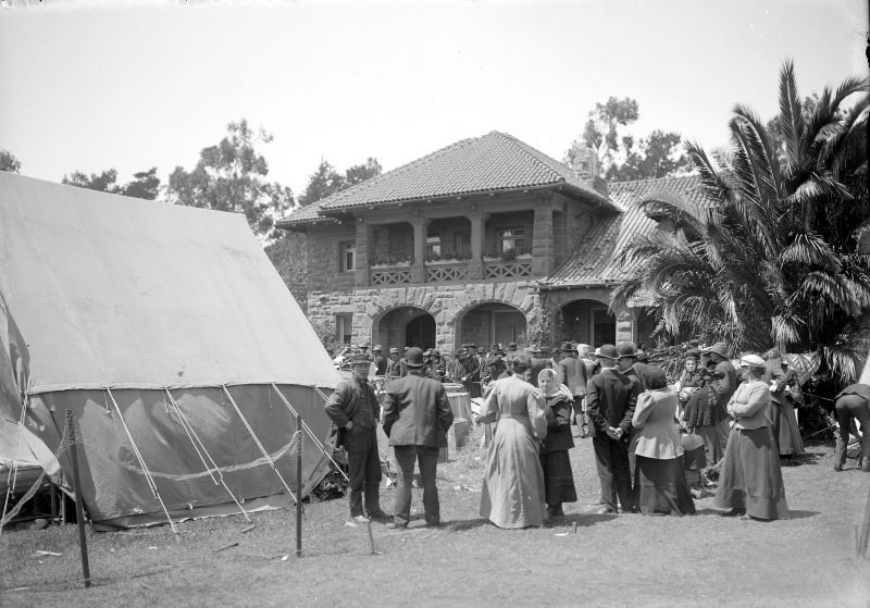
[[[568,450],[574,447],[571,435],[573,396],[559,384],[556,370],[540,370],[537,386],[544,393],[547,414],[547,436],[540,444],[540,467],[544,469],[544,494],[547,517],[563,517],[562,502],[576,502],[574,473]]]

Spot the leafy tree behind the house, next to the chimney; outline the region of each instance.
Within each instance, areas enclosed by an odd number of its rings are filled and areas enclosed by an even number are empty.
[[[596,166],[611,181],[664,177],[685,171],[687,160],[679,133],[657,129],[638,140],[623,133],[638,117],[637,101],[629,97],[611,97],[605,103],[596,103],[580,139],[566,152],[566,163],[582,165],[587,162],[586,150],[592,150]]]

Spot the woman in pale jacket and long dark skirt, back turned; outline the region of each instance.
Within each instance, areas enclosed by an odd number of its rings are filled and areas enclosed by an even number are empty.
[[[647,369],[646,385],[632,417],[634,504],[645,516],[694,514],[695,502],[683,469],[683,446],[673,419],[676,394],[668,388],[661,368]]]

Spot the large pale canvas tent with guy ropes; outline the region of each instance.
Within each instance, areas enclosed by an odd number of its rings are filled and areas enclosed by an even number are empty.
[[[54,452],[72,410],[96,522],[286,504],[291,409],[327,435],[337,373],[243,215],[0,173],[0,297],[5,434]]]

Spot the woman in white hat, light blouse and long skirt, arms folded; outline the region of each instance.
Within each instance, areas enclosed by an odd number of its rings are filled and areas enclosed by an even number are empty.
[[[780,455],[770,422],[770,385],[765,382],[765,360],[757,355],[741,359],[746,380],[728,404],[734,419],[728,437],[713,506],[725,516],[772,520],[788,517]]]

